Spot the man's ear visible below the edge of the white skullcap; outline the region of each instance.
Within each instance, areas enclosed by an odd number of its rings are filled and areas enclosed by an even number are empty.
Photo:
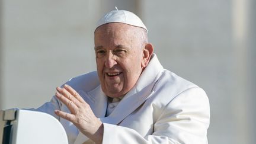
[[[143,49],[142,68],[145,68],[148,65],[152,54],[153,54],[153,45],[151,43],[146,43]]]

